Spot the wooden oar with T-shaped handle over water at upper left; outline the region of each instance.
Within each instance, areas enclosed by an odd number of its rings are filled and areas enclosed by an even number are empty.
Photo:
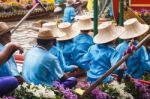
[[[28,13],[18,22],[18,24],[15,26],[15,28],[13,29],[12,33],[14,33],[16,31],[16,29],[23,23],[24,20],[26,20],[28,18],[28,16],[31,14],[31,12],[38,6],[40,5],[42,7],[42,9],[46,11],[46,9],[43,7],[42,3],[39,0],[36,0],[36,4],[28,11]]]

